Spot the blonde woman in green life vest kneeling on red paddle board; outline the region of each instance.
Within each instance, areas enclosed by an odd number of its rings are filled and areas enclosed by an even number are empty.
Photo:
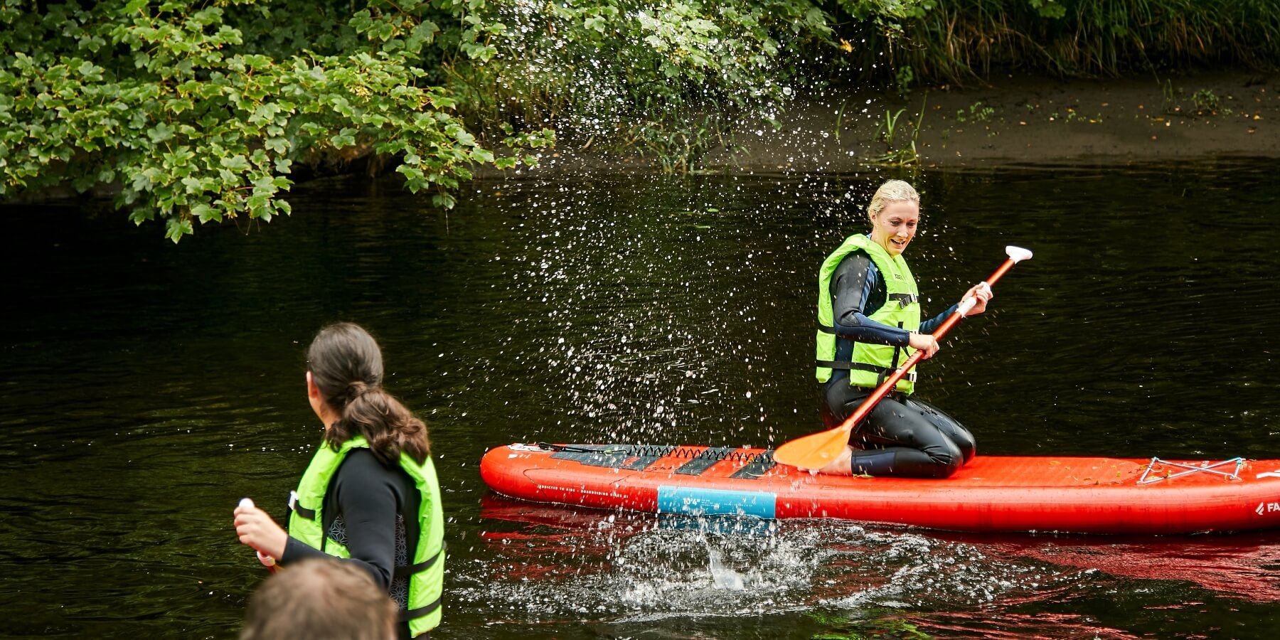
[[[826,383],[823,421],[841,424],[914,349],[931,357],[929,335],[956,307],[920,321],[919,291],[902,251],[915,237],[920,196],[902,180],[888,180],[867,212],[872,232],[850,236],[827,256],[818,274],[818,380]],[[991,289],[965,296],[980,314]],[[951,416],[911,398],[915,371],[904,376],[864,420],[850,447],[823,474],[947,477],[977,451],[973,435]]]

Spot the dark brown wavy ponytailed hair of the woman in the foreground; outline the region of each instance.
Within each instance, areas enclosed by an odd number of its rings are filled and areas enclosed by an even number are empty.
[[[329,447],[364,435],[383,465],[398,465],[401,452],[426,462],[426,425],[383,390],[383,352],[369,332],[351,323],[320,329],[307,347],[307,370],[325,403],[342,413],[325,431]]]

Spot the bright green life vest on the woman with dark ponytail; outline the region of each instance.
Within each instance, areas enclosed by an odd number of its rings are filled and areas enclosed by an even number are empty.
[[[325,535],[323,513],[329,480],[338,471],[347,452],[369,448],[357,435],[333,451],[321,443],[302,474],[298,490],[289,495],[289,535],[330,556],[349,558],[347,547]],[[401,468],[413,479],[420,495],[419,540],[411,567],[396,567],[394,577],[408,576],[408,608],[401,621],[408,621],[410,635],[417,636],[440,625],[440,596],[444,593],[444,509],[440,506],[440,484],[435,479],[431,458],[419,465],[401,453]]]

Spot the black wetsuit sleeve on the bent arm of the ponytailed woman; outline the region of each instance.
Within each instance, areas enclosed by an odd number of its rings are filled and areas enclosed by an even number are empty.
[[[329,483],[325,511],[342,515],[347,529],[347,550],[352,562],[369,571],[387,589],[396,570],[396,516],[398,483],[367,449],[355,449]],[[328,517],[325,520],[329,520]],[[329,557],[306,543],[289,538],[280,564],[308,557]]]

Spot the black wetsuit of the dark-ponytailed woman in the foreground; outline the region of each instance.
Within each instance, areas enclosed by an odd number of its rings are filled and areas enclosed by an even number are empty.
[[[408,564],[417,547],[420,502],[413,479],[404,470],[384,467],[369,449],[351,449],[329,481],[321,511],[324,531],[343,543],[351,558],[334,558],[291,536],[280,564],[305,558],[352,562],[369,571],[404,609],[408,580],[394,577],[394,572],[397,566]],[[397,632],[410,637],[408,622],[397,623]]]

